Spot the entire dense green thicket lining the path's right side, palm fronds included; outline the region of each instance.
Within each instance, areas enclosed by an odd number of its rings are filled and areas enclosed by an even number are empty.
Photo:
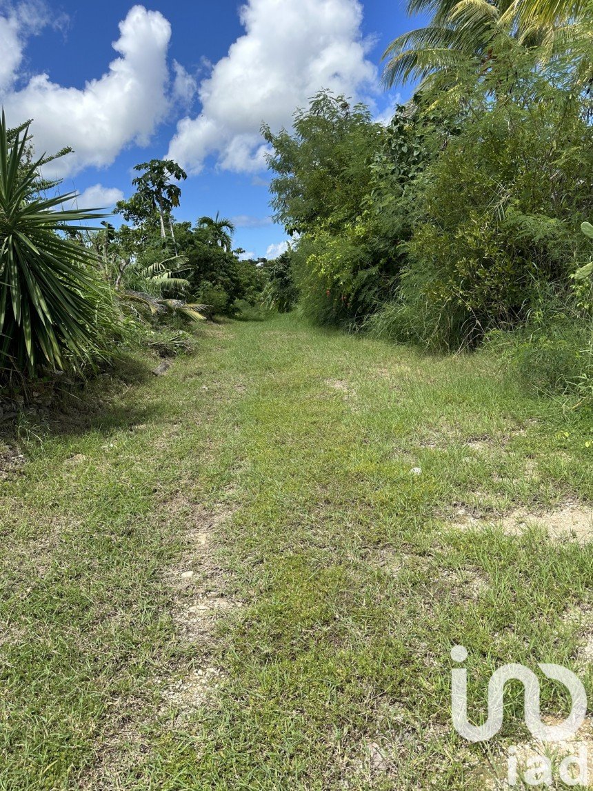
[[[593,25],[576,6],[546,29],[519,4],[422,8],[432,28],[391,47],[386,72],[421,89],[387,127],[327,92],[292,133],[264,127],[300,306],[321,323],[449,350],[494,331],[500,347],[529,326],[523,359],[553,367],[564,355],[564,373],[541,380],[568,387],[587,369],[593,307]]]

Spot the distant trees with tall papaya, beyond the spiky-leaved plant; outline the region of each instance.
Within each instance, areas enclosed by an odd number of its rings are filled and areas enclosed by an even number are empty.
[[[239,301],[255,304],[261,277],[255,262],[240,260],[233,251],[232,221],[217,213],[195,225],[177,222],[172,212],[181,190],[170,180],[183,180],[183,170],[172,161],[150,161],[137,169],[144,174],[133,182],[136,192],[116,206],[130,225],[108,241],[109,277],[115,277],[117,289],[134,292],[134,302],[138,293],[163,297],[168,306],[183,301],[179,310],[187,314],[189,308],[190,318],[232,314]],[[100,244],[104,241],[105,233]]]

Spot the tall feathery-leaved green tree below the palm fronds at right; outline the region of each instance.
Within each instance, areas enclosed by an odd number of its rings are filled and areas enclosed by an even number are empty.
[[[568,286],[583,254],[593,130],[587,100],[567,89],[570,64],[544,74],[517,47],[491,79],[505,99],[493,103],[487,81],[467,81],[459,133],[421,177],[400,337],[455,347],[516,326],[542,284]]]

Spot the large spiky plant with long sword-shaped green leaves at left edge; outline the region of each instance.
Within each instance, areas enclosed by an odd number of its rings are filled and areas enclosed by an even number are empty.
[[[0,120],[0,368],[34,375],[100,353],[100,328],[111,321],[95,277],[97,259],[65,238],[69,223],[104,217],[56,210],[76,193],[38,194],[43,157],[29,161],[28,127],[9,137]]]

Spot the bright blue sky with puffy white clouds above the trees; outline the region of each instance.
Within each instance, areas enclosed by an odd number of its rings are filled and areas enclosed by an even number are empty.
[[[397,0],[0,0],[0,103],[35,119],[39,148],[73,146],[55,175],[82,203],[127,197],[135,164],[170,156],[190,173],[179,220],[220,211],[237,247],[274,255],[260,124],[323,87],[384,116],[410,88],[383,92],[381,55],[417,24]]]

